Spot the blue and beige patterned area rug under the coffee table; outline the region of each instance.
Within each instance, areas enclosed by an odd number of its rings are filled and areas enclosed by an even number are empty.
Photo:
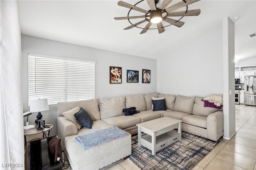
[[[142,134],[143,135],[143,134]],[[132,154],[129,160],[142,170],[190,170],[220,142],[182,131],[182,140],[151,154],[138,146],[138,136],[132,136]]]

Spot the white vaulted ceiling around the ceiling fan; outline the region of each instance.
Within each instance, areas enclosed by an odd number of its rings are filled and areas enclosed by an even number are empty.
[[[180,2],[173,0],[169,6]],[[168,26],[165,32],[132,28],[128,20],[114,20],[114,17],[127,16],[129,9],[117,5],[118,0],[20,0],[21,33],[116,51],[130,55],[157,59],[171,50],[206,36],[222,28],[222,19],[230,17],[235,22],[235,59],[242,60],[256,56],[255,0],[201,0],[188,6],[188,10],[201,9],[199,16],[187,16],[181,19],[184,26]],[[136,4],[138,0],[124,0]],[[161,4],[162,1],[158,2]],[[146,1],[138,4],[149,10]],[[168,6],[168,7],[169,7]],[[177,11],[185,10],[185,7]],[[144,15],[132,10],[130,16]],[[234,20],[235,17],[238,20]],[[142,20],[142,19],[140,19]],[[140,20],[132,20],[133,23]],[[140,25],[144,27],[145,25]],[[207,43],[207,42],[206,42]]]

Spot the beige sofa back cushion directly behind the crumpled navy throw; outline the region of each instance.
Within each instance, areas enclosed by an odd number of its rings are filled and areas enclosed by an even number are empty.
[[[133,95],[125,97],[125,107],[136,107],[136,111],[146,111],[144,95]]]

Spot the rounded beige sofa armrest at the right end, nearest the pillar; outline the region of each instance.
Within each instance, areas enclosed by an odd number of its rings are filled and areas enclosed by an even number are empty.
[[[223,136],[223,111],[208,115],[206,119],[207,138],[217,141]]]

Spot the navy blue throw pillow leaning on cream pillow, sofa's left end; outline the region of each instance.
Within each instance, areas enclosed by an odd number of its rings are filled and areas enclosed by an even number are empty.
[[[92,128],[92,118],[82,107],[78,113],[74,114],[74,117],[84,127]]]

